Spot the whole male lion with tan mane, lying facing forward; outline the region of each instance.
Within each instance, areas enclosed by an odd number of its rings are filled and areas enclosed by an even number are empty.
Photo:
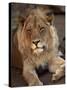
[[[43,85],[36,73],[40,66],[43,69],[47,66],[52,80],[64,76],[65,62],[58,55],[59,43],[53,20],[50,10],[33,9],[23,27],[21,24],[15,33],[14,41],[17,37],[17,48],[22,55],[22,74],[29,86]]]

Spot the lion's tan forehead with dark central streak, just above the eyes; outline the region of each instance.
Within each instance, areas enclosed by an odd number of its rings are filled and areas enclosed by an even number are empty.
[[[32,17],[29,18],[29,22],[27,24],[27,28],[37,28],[38,26],[40,27],[49,27],[46,24],[46,20],[44,18],[41,18],[40,16],[34,16],[32,15]]]

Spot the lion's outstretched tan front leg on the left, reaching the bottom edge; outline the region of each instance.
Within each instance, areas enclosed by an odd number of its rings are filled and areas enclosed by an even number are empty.
[[[43,85],[43,83],[39,80],[35,69],[32,69],[31,65],[28,65],[28,63],[24,66],[23,77],[29,86]]]

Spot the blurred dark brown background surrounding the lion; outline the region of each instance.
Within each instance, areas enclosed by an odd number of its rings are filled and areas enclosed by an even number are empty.
[[[65,6],[53,6],[53,5],[34,5],[34,4],[22,4],[22,3],[11,3],[11,36],[16,31],[18,26],[18,20],[17,17],[21,16],[23,18],[26,18],[29,14],[29,11],[31,11],[33,8],[36,8],[37,6],[40,7],[47,7],[52,10],[55,16],[54,24],[58,32],[59,36],[59,50],[62,52],[62,56],[65,59]],[[12,36],[13,37],[13,36]],[[12,42],[11,42],[12,44]],[[19,55],[19,57],[18,57]],[[15,47],[11,47],[11,86],[17,87],[17,86],[26,86],[23,77],[22,77],[22,69],[20,65],[21,56],[18,53],[17,50],[15,50]],[[47,71],[43,75],[39,75],[40,80],[44,83],[44,85],[54,85],[54,84],[64,84],[65,78],[58,80],[57,82],[53,83],[51,81],[51,74]]]

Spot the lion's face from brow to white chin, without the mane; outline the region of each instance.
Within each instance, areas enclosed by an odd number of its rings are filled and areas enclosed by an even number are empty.
[[[48,27],[40,18],[33,17],[33,20],[30,19],[27,33],[31,38],[30,45],[34,53],[38,54],[48,49],[48,44],[45,40],[49,34]]]

